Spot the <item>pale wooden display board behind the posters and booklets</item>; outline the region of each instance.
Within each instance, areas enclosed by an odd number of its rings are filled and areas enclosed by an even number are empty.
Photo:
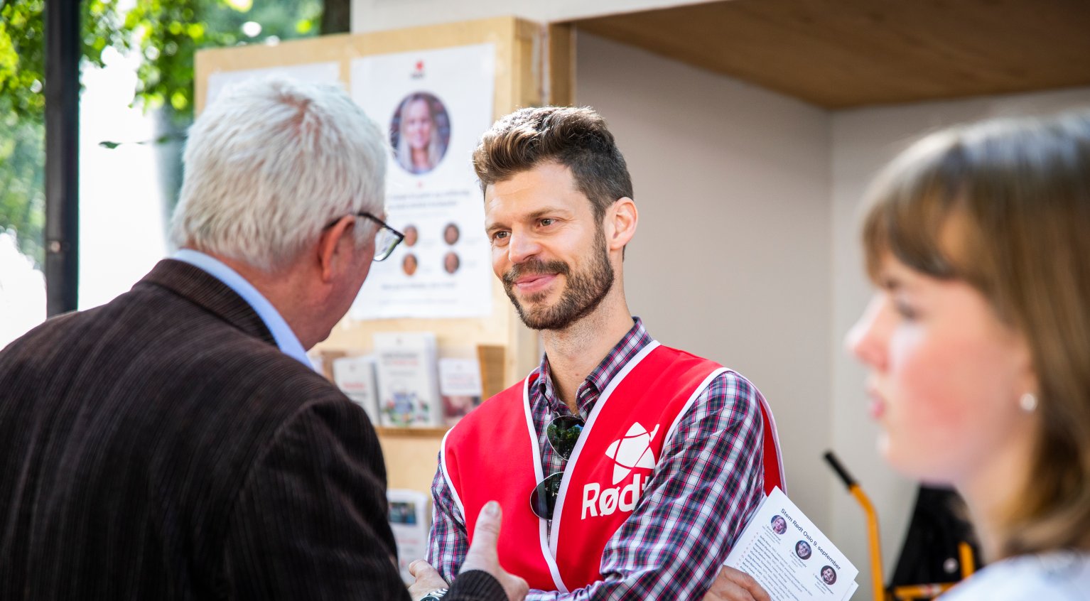
[[[567,28],[543,27],[513,17],[412,27],[359,35],[332,35],[282,43],[198,52],[196,58],[197,111],[205,105],[209,76],[215,73],[337,62],[340,81],[350,84],[353,59],[373,55],[431,50],[491,43],[496,52],[494,112],[496,118],[516,108],[547,103],[569,104],[570,64]],[[559,60],[549,60],[559,56]],[[555,67],[548,69],[546,63]],[[346,317],[327,340],[315,347],[326,359],[366,354],[375,333],[432,332],[439,356],[475,348],[481,364],[484,396],[524,377],[540,360],[536,335],[522,325],[502,286],[493,279],[492,314],[479,318],[397,318],[354,321]],[[446,428],[376,426],[387,462],[391,489],[429,490],[436,455]]]

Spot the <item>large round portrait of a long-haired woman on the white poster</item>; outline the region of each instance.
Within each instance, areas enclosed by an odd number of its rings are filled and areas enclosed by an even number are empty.
[[[449,142],[450,117],[441,100],[414,92],[398,103],[390,120],[390,146],[402,169],[414,175],[435,169]]]

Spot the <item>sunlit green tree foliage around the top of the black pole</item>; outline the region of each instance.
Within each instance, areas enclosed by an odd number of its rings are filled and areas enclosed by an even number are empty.
[[[0,0],[0,230],[14,229],[20,250],[38,264],[45,259],[44,8],[44,0]],[[102,67],[108,49],[140,52],[134,103],[166,111],[183,128],[193,119],[196,50],[316,35],[323,1],[82,0],[80,9],[83,67]]]

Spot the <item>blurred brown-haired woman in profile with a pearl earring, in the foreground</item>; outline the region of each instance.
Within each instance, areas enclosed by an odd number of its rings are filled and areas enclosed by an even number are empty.
[[[1090,598],[1090,113],[928,136],[869,203],[879,446],[958,490],[991,564],[944,599]]]

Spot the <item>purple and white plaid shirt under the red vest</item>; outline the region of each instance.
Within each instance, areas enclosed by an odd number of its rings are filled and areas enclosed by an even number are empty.
[[[632,329],[606,354],[577,390],[584,420],[598,395],[652,338],[637,317]],[[548,358],[530,389],[542,473],[564,469],[545,428],[571,414],[556,394]],[[699,599],[712,586],[735,539],[764,498],[760,393],[741,375],[716,377],[678,421],[663,446],[640,504],[606,543],[605,579],[569,593],[531,590],[528,600]],[[465,525],[439,469],[432,483],[434,513],[428,563],[450,581],[469,549]]]

